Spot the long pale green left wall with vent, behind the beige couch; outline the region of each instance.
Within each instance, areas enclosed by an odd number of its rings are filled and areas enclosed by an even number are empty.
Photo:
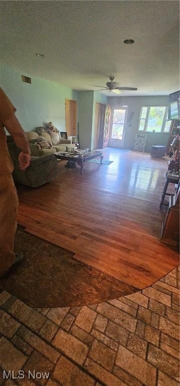
[[[32,83],[23,82],[21,75],[31,77]],[[16,107],[16,116],[25,131],[47,122],[65,131],[65,99],[78,98],[77,91],[71,88],[3,65],[1,87]]]

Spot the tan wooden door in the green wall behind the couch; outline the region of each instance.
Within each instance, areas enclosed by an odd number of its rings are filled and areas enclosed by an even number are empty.
[[[65,100],[67,136],[76,136],[76,101]]]

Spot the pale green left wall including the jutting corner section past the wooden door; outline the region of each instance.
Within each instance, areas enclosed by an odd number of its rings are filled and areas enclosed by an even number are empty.
[[[21,75],[31,77],[32,83],[22,82]],[[81,148],[92,147],[96,102],[107,103],[97,91],[76,91],[58,83],[34,77],[14,68],[1,66],[1,87],[16,107],[16,116],[25,131],[52,122],[65,131],[65,99],[77,101],[77,122]]]

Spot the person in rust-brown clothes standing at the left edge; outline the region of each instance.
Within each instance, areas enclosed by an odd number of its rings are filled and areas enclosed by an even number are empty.
[[[30,164],[30,148],[15,112],[15,107],[0,87],[0,277],[23,259],[23,253],[18,255],[14,252],[18,196],[12,177],[13,163],[7,147],[5,127],[21,149],[19,166],[22,170]]]

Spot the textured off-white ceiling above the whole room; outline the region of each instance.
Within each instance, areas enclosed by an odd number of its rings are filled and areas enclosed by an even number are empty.
[[[138,87],[121,95],[179,87],[176,1],[1,1],[0,11],[1,59],[24,73],[78,90],[99,90],[110,75]]]

